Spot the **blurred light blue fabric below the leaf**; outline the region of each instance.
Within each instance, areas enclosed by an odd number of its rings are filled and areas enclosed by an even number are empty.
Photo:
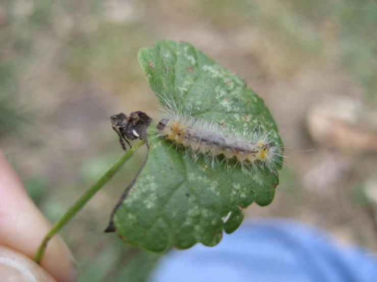
[[[376,282],[377,258],[294,221],[261,219],[215,247],[171,251],[150,281]]]

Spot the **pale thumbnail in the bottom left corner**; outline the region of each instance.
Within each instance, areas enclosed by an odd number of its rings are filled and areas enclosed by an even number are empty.
[[[0,277],[3,282],[38,282],[26,266],[4,257],[0,257]]]

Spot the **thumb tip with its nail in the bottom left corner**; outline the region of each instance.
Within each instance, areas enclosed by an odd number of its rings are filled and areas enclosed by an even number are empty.
[[[55,282],[43,268],[22,253],[0,245],[2,282]]]

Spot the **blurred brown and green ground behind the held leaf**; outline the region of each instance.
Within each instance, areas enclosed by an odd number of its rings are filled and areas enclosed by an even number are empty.
[[[376,251],[376,14],[356,0],[3,1],[1,148],[57,220],[122,154],[109,116],[157,111],[137,51],[187,41],[244,78],[293,148],[274,202],[247,216],[297,218]],[[103,233],[144,157],[62,232],[80,281],[143,281],[158,259]]]

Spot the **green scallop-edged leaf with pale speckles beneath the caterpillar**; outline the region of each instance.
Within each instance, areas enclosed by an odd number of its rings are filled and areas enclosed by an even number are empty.
[[[141,49],[138,59],[160,100],[171,97],[184,110],[191,108],[193,116],[240,130],[259,124],[283,146],[263,100],[192,45],[159,41]],[[273,200],[279,178],[267,168],[244,174],[240,166],[212,167],[203,157],[185,158],[183,148],[157,135],[154,122],[147,140],[144,168],[113,217],[118,234],[131,245],[152,251],[170,245],[185,249],[198,242],[214,246],[223,231],[232,233],[239,227],[242,208],[253,202],[266,206]]]

